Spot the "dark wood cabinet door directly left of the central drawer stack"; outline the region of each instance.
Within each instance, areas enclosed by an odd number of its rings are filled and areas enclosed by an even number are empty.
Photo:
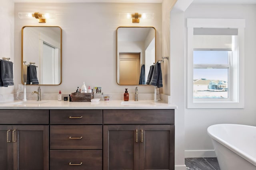
[[[13,126],[14,170],[49,170],[49,126]]]

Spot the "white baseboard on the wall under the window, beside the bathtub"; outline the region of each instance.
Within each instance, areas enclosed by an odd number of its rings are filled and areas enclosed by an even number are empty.
[[[185,150],[185,158],[209,158],[216,157],[214,150]]]

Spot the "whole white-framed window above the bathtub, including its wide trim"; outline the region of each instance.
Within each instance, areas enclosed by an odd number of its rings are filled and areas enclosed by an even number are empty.
[[[188,19],[187,24],[188,108],[243,108],[245,21]]]

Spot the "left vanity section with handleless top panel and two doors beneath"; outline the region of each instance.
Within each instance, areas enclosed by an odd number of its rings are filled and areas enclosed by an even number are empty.
[[[49,170],[49,110],[0,110],[0,170]]]

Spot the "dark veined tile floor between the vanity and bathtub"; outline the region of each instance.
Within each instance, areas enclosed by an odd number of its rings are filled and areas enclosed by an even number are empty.
[[[185,158],[186,170],[220,170],[217,158]]]

